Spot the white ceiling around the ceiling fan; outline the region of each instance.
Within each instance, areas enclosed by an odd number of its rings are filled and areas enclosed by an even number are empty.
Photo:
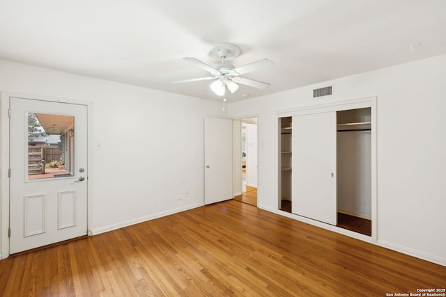
[[[405,45],[421,42],[410,52]],[[446,54],[445,0],[0,0],[0,59],[218,99],[183,61],[213,64],[219,43],[240,47],[236,67],[275,65],[243,77],[236,101]]]

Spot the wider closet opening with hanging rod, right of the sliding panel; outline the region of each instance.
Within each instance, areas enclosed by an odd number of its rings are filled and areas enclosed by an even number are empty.
[[[337,111],[337,226],[371,236],[370,108]]]

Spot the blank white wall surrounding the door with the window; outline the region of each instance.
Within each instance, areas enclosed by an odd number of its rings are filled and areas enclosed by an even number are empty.
[[[89,167],[93,233],[203,204],[203,118],[226,118],[220,102],[8,61],[0,90],[93,103],[92,140],[102,145]],[[4,177],[3,152],[1,162]]]

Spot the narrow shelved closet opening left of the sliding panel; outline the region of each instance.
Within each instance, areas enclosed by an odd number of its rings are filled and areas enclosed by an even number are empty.
[[[291,212],[291,117],[279,118],[279,209]]]

